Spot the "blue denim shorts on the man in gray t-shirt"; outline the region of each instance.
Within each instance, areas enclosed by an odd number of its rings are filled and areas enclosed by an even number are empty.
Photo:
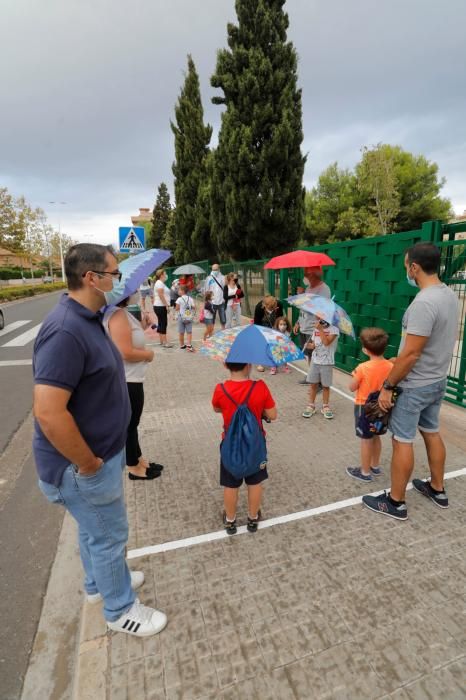
[[[403,388],[393,407],[388,428],[398,442],[414,442],[417,429],[438,433],[439,414],[447,380],[415,388]]]

